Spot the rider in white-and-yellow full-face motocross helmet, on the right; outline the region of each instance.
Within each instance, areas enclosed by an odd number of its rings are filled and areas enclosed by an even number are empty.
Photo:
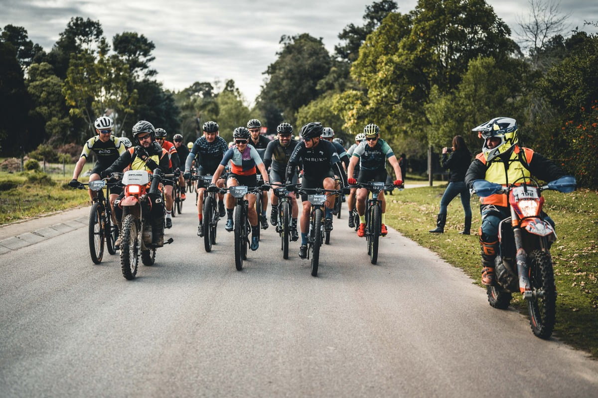
[[[465,184],[472,188],[474,180],[507,185],[520,177],[535,176],[542,180],[556,180],[565,172],[553,161],[518,145],[517,121],[508,117],[493,118],[472,131],[484,139],[482,152],[475,157],[465,173]],[[523,180],[521,180],[523,182]],[[501,220],[511,216],[507,196],[502,194],[480,198],[480,249],[482,256],[482,284],[495,283],[495,258],[498,255],[498,227]],[[554,226],[553,220],[542,212],[541,216]]]

